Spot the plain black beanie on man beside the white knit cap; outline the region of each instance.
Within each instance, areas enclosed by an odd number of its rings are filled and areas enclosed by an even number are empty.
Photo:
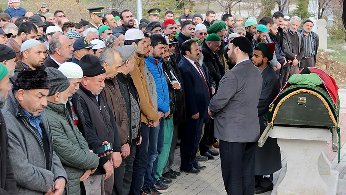
[[[86,54],[79,61],[79,65],[83,70],[84,77],[95,77],[106,73],[97,56]]]

